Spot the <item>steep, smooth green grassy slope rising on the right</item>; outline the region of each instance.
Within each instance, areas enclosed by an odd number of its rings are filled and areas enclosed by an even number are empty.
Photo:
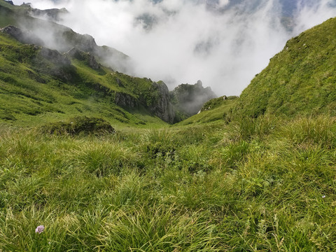
[[[241,93],[237,112],[336,114],[336,18],[290,39]]]

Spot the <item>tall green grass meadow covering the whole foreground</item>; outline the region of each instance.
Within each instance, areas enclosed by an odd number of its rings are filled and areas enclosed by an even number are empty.
[[[1,127],[0,248],[334,251],[335,118],[241,123]]]

